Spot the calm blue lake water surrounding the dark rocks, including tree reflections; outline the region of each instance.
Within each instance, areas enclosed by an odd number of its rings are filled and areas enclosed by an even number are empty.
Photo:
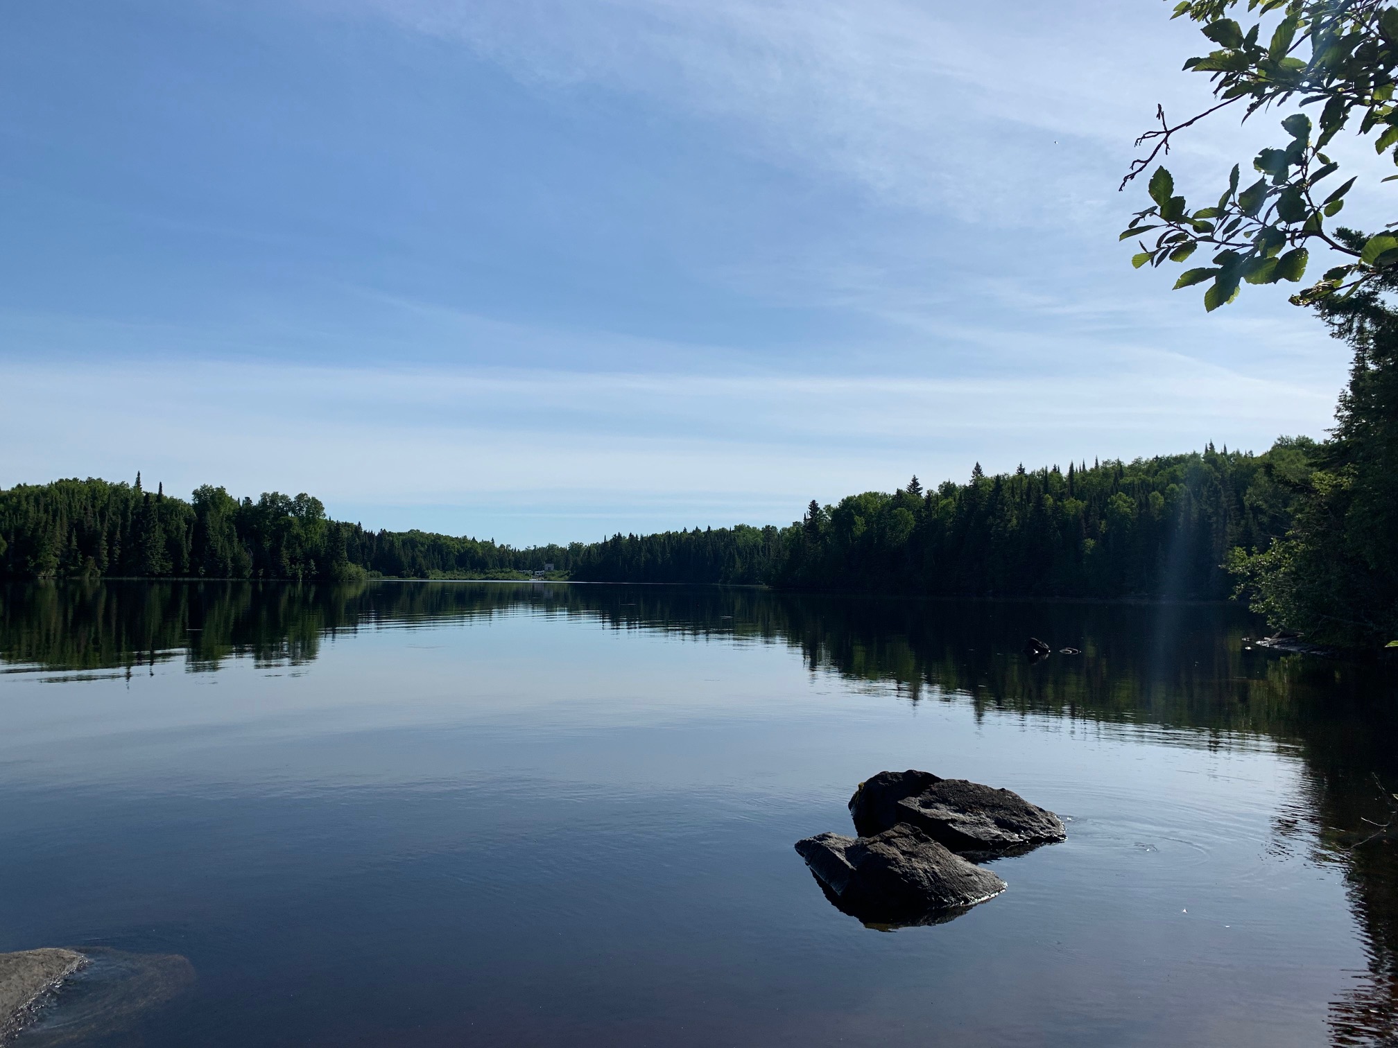
[[[1398,1044],[1398,844],[1362,843],[1392,817],[1394,682],[1244,651],[1255,629],[723,588],[0,590],[0,950],[99,959],[18,1044]],[[1083,654],[1029,665],[1028,634]],[[1068,840],[949,924],[865,928],[791,845],[853,833],[854,787],[907,767],[1009,787]]]

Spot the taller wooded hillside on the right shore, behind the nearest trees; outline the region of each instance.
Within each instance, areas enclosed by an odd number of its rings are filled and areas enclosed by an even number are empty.
[[[931,595],[1222,598],[1229,551],[1262,549],[1290,523],[1311,444],[1069,465],[923,492],[811,504],[773,581]]]

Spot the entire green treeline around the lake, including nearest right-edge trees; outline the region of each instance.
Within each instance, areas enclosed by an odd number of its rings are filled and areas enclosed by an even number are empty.
[[[1385,340],[1387,341],[1387,340]],[[1398,341],[1398,340],[1395,340]],[[88,478],[0,490],[0,578],[549,580],[769,585],[932,598],[1222,601],[1350,650],[1398,647],[1392,476],[1352,463],[1359,393],[1394,369],[1356,354],[1336,436],[1069,463],[893,493],[812,500],[786,527],[737,524],[514,548],[468,535],[370,531],[310,495],[256,502],[204,485],[186,502]],[[1377,372],[1377,374],[1376,374]],[[1385,429],[1387,435],[1387,429]],[[1364,468],[1360,468],[1363,465]],[[1371,474],[1374,476],[1371,476]]]

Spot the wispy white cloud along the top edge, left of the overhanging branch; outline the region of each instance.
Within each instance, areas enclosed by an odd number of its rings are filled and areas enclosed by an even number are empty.
[[[356,4],[541,87],[654,96],[885,203],[1000,226],[1109,201],[1156,96],[1204,87],[1173,75],[1194,36],[1148,0]]]

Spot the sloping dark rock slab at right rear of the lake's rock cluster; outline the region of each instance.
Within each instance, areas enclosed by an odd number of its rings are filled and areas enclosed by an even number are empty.
[[[965,778],[942,778],[898,802],[898,819],[952,851],[1009,854],[1061,841],[1068,834],[1053,812],[1009,789]]]

